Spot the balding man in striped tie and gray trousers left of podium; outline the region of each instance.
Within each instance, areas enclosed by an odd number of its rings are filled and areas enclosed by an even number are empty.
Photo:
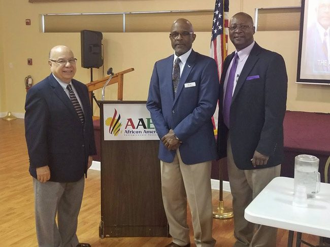
[[[90,246],[79,243],[76,231],[84,174],[96,148],[87,87],[73,79],[76,60],[68,47],[52,48],[52,74],[26,95],[25,137],[39,246]]]

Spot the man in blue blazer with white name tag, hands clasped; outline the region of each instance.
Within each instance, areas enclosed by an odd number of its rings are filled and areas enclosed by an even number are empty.
[[[147,108],[161,139],[162,198],[173,242],[190,246],[187,200],[197,246],[214,246],[212,238],[211,161],[216,158],[212,116],[219,79],[214,59],[191,49],[191,23],[176,20],[170,40],[174,55],[155,63]]]

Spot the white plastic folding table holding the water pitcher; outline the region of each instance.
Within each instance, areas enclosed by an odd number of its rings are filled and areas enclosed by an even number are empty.
[[[288,246],[292,246],[293,231],[299,233],[299,244],[301,233],[330,237],[330,184],[321,183],[320,188],[315,198],[307,200],[306,208],[296,207],[292,206],[293,179],[275,178],[246,207],[244,217],[255,224],[289,230]]]

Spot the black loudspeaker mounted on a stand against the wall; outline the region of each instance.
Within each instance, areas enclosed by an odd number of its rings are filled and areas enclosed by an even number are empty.
[[[81,66],[83,68],[98,68],[103,65],[102,38],[102,32],[80,31]]]

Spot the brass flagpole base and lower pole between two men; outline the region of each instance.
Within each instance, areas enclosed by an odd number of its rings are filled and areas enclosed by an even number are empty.
[[[224,207],[223,205],[223,180],[222,180],[222,162],[219,160],[219,202],[218,205],[213,206],[213,218],[229,219],[234,217],[232,207]]]

